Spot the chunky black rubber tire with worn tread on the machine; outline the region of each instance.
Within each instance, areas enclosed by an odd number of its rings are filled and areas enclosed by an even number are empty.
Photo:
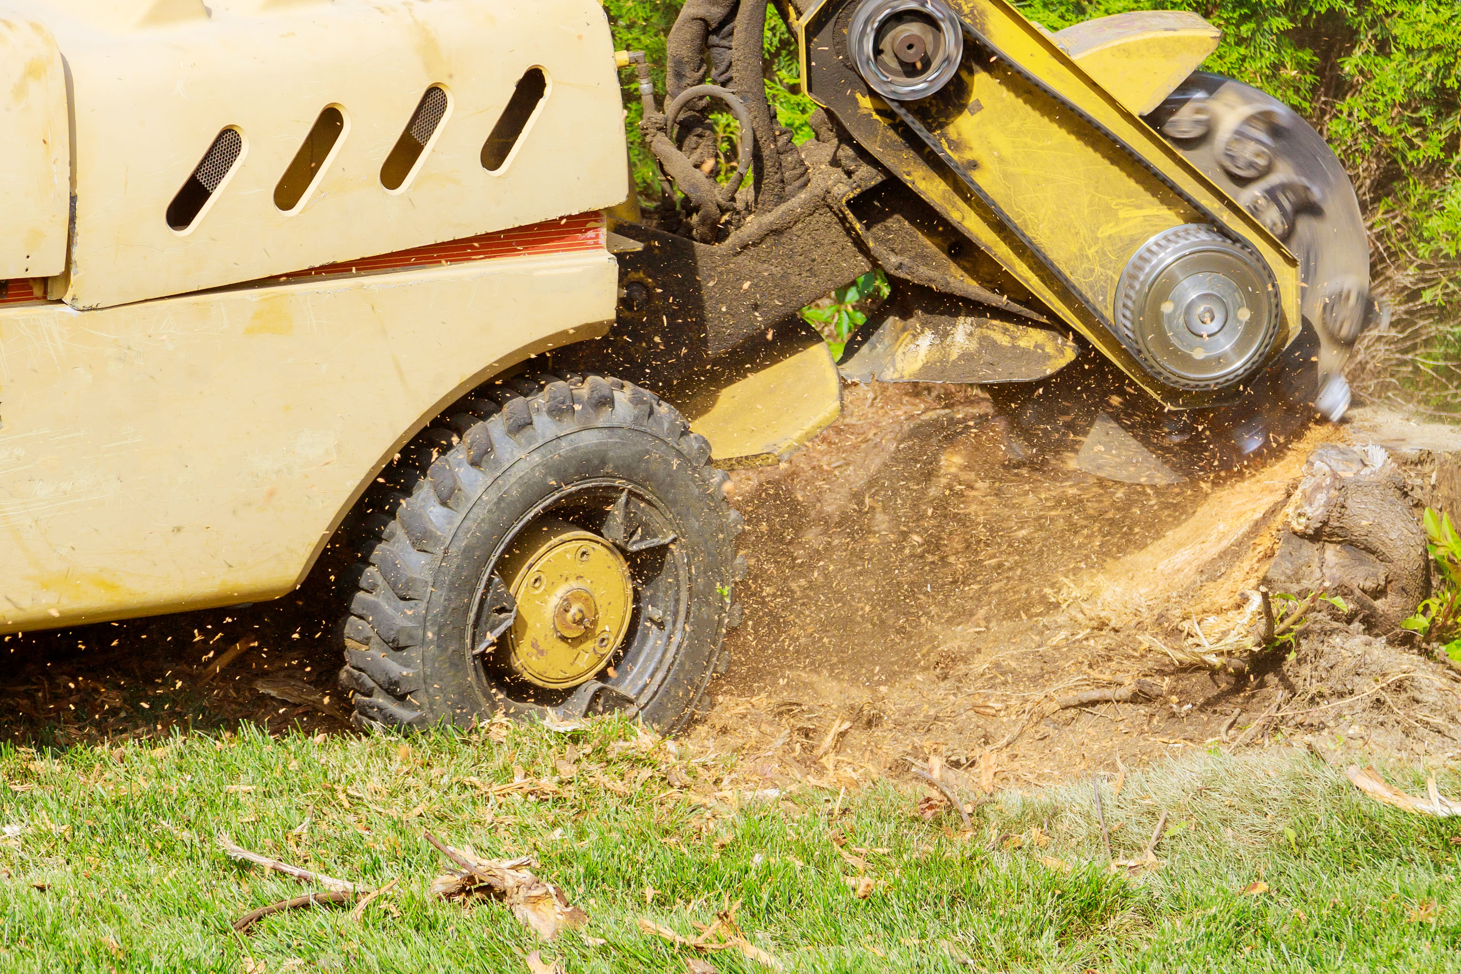
[[[498,713],[579,716],[562,713],[571,704],[583,713],[628,710],[674,733],[709,710],[707,685],[728,666],[725,632],[739,622],[730,587],[745,562],[735,553],[742,520],[726,502],[726,475],[709,466],[704,437],[652,393],[599,375],[494,383],[447,412],[387,469],[387,488],[377,485],[362,501],[362,562],[340,670],[356,724],[466,727]],[[619,483],[662,504],[674,527],[666,558],[682,567],[684,594],[675,619],[660,625],[655,676],[633,697],[593,689],[587,704],[583,694],[543,702],[527,688],[524,698],[468,651],[473,599],[554,491]]]

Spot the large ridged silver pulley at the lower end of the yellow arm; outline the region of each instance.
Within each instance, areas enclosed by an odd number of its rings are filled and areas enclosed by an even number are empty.
[[[1116,327],[1167,386],[1227,388],[1249,378],[1278,339],[1278,285],[1258,254],[1217,229],[1173,226],[1122,272]]]

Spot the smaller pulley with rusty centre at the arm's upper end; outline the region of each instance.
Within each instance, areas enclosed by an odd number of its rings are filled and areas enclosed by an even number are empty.
[[[942,0],[863,0],[852,15],[847,47],[872,91],[918,101],[958,72],[964,32]]]

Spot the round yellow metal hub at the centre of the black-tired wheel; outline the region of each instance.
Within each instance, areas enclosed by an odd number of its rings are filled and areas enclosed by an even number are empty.
[[[498,572],[517,600],[513,670],[539,686],[577,686],[609,662],[630,625],[630,567],[609,542],[558,520],[529,526]]]

